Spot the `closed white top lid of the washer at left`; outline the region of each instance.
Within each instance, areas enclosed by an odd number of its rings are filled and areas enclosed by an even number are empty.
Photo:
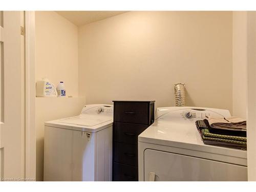
[[[80,125],[80,126],[95,126],[97,124],[101,124],[107,121],[111,121],[111,117],[95,117],[95,116],[77,116],[66,119],[59,119],[57,122],[66,123],[70,125]]]

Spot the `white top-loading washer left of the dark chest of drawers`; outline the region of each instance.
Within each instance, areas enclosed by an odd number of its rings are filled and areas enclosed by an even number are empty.
[[[45,122],[45,181],[112,180],[113,105],[85,105],[79,116]]]

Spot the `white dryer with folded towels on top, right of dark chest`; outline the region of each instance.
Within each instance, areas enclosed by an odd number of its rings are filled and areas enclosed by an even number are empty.
[[[247,181],[247,152],[206,145],[195,121],[229,117],[227,110],[157,108],[156,120],[138,137],[139,181]]]

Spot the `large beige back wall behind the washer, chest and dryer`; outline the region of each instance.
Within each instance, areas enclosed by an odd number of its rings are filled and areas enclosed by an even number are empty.
[[[79,95],[87,103],[154,99],[232,112],[232,12],[127,12],[78,29]]]

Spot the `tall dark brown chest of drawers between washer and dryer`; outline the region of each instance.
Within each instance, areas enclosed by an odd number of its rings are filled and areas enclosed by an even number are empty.
[[[138,135],[154,122],[155,101],[113,102],[113,181],[138,181]]]

